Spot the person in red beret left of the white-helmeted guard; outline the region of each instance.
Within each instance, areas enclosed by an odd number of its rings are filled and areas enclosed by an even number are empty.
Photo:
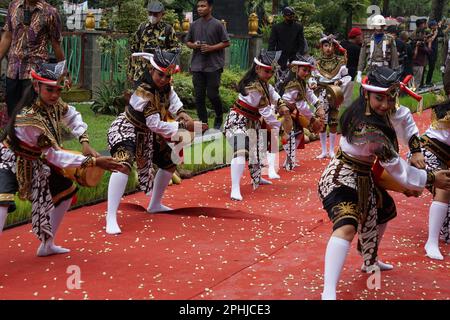
[[[347,69],[352,80],[347,84],[344,90],[345,107],[352,103],[353,88],[355,86],[356,71],[358,70],[359,54],[363,43],[363,33],[360,28],[352,28],[348,33],[348,40],[341,42],[341,46],[347,50]]]

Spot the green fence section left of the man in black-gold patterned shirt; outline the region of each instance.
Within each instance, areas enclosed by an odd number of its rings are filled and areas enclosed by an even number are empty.
[[[128,39],[114,39],[113,48],[101,55],[102,81],[125,81],[127,78]]]

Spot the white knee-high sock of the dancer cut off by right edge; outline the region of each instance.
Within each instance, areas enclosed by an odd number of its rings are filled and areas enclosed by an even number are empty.
[[[439,250],[439,231],[442,228],[447,215],[448,204],[440,201],[433,201],[430,206],[430,216],[428,222],[428,240],[425,244],[427,256],[431,259],[444,260]]]

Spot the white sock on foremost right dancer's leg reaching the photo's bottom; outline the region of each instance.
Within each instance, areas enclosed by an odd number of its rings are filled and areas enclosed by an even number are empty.
[[[336,300],[336,286],[350,249],[350,241],[332,236],[325,253],[325,275],[322,300]]]

